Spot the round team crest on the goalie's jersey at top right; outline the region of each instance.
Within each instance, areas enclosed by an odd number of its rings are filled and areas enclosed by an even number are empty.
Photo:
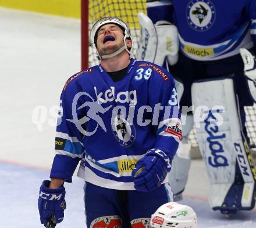
[[[187,5],[187,23],[197,31],[208,30],[214,24],[216,12],[209,0],[191,0]]]

